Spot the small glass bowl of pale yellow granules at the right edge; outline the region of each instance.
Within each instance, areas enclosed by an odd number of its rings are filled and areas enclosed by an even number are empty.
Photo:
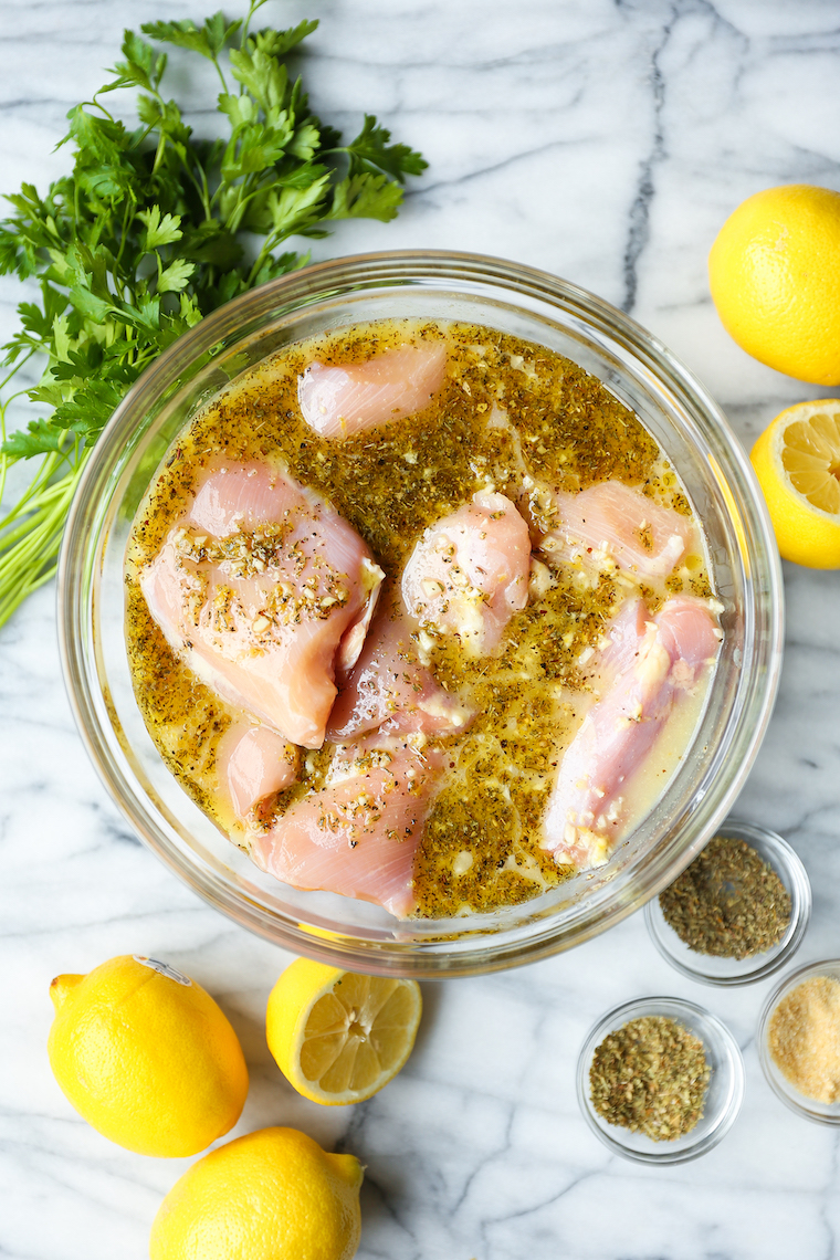
[[[840,959],[787,975],[764,1003],[757,1041],[782,1102],[817,1124],[840,1124]]]

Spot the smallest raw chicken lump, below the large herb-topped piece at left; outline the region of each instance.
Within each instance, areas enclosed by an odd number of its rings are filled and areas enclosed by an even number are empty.
[[[271,727],[234,722],[219,740],[215,767],[236,815],[246,822],[263,801],[291,788],[300,752]]]

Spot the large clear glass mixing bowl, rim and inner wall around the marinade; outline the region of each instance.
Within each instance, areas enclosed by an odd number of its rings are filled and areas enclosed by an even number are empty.
[[[184,794],[135,703],[122,563],[135,510],[195,408],[280,346],[402,316],[501,329],[573,359],[631,407],[678,469],[704,524],[725,606],[703,721],[655,808],[611,862],[494,914],[397,922],[385,911],[262,874]],[[59,573],[67,685],[107,789],[149,847],[210,905],[296,953],[370,973],[476,974],[543,958],[632,914],[670,883],[725,816],[776,694],[782,593],[776,544],[748,460],[723,413],[665,346],[591,294],[496,258],[433,251],[307,267],[246,294],[141,377],[97,442]]]

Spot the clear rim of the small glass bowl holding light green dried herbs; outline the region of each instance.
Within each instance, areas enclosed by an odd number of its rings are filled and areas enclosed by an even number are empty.
[[[732,1085],[727,1104],[720,1111],[712,1131],[700,1137],[695,1142],[685,1142],[676,1149],[670,1143],[662,1143],[662,1147],[667,1149],[662,1149],[661,1153],[656,1150],[633,1150],[631,1147],[625,1145],[620,1138],[613,1137],[611,1131],[602,1129],[594,1118],[594,1109],[588,1091],[589,1063],[603,1037],[607,1036],[613,1027],[621,1027],[621,1024],[628,1023],[630,1019],[633,1018],[642,1018],[646,1008],[657,1002],[667,1003],[674,1012],[676,1012],[675,1018],[678,1019],[679,1012],[684,1011],[690,1012],[690,1014],[699,1017],[704,1022],[708,1022],[715,1031],[720,1043],[727,1050],[728,1063],[732,1072]],[[618,1023],[620,1019],[621,1024]],[[700,1040],[705,1046],[705,1040]],[[640,1164],[685,1164],[693,1159],[699,1159],[701,1155],[705,1155],[709,1150],[714,1149],[714,1147],[717,1147],[718,1143],[722,1142],[729,1133],[729,1129],[738,1119],[746,1089],[744,1058],[741,1052],[741,1046],[735,1041],[734,1033],[727,1027],[723,1019],[713,1014],[712,1011],[707,1011],[705,1007],[701,1007],[698,1002],[690,1002],[688,998],[675,998],[667,994],[647,994],[641,998],[631,998],[628,1002],[620,1002],[618,1005],[612,1007],[606,1012],[606,1014],[601,1016],[601,1018],[593,1023],[589,1032],[584,1037],[578,1053],[576,1087],[583,1118],[589,1125],[589,1129],[610,1150],[613,1150],[617,1154],[623,1155],[626,1159]],[[615,1129],[616,1133],[625,1131],[621,1125],[611,1125],[610,1129]],[[690,1133],[685,1134],[686,1139],[690,1139]]]

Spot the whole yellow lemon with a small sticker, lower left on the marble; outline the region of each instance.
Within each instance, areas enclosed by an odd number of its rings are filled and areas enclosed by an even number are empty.
[[[188,976],[122,955],[57,975],[49,1062],[76,1110],[142,1155],[195,1155],[233,1128],[248,1068],[228,1019]]]

